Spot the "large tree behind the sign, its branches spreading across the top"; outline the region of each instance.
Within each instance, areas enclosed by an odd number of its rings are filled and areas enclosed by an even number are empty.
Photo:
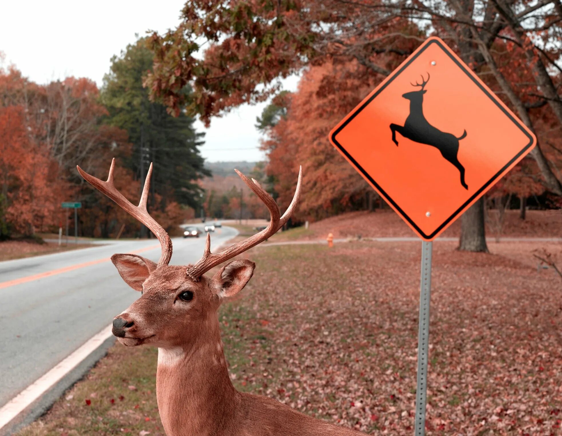
[[[546,5],[553,10],[551,4],[554,4],[555,13],[541,9]],[[560,55],[562,15],[554,18],[548,15],[559,14],[562,7],[558,2],[523,1],[516,6],[510,3],[507,9],[506,12],[505,2],[479,0],[280,0],[277,3],[194,0],[185,5],[177,29],[162,36],[156,33],[151,36],[155,66],[147,77],[147,84],[152,96],[164,99],[170,112],[187,107],[209,123],[211,116],[235,105],[268,98],[277,91],[279,77],[286,77],[305,66],[310,68],[327,62],[359,65],[370,77],[380,80],[398,65],[396,61],[404,59],[433,33],[456,49],[488,84],[493,86],[500,82],[502,93],[509,89],[519,90],[521,82],[518,77],[510,77],[501,83],[501,76],[494,70],[498,59],[488,53],[494,52],[498,42],[514,40],[522,48],[518,56],[523,56],[532,66],[537,80],[542,78],[536,84],[549,85],[544,74],[546,70],[540,63],[542,58],[556,59]],[[542,18],[536,19],[538,12]],[[542,22],[532,29],[525,26],[522,31],[520,23],[533,19]],[[555,38],[558,44],[549,40],[538,49],[536,44],[529,43],[536,37],[543,40]],[[197,52],[203,45],[207,48],[200,56]],[[512,56],[511,59],[517,58]],[[554,61],[547,62],[556,67]],[[361,74],[365,70],[361,70]],[[496,81],[493,84],[492,78]],[[189,99],[180,92],[186,84],[193,85],[193,95]],[[529,91],[528,88],[525,91]],[[556,111],[558,103],[550,101],[558,100],[558,95],[542,94],[537,86],[526,93],[549,99],[551,109]],[[516,106],[516,100],[507,95],[510,99],[507,103]],[[542,104],[527,103],[529,95],[522,97],[518,96],[524,102],[525,110],[528,105]],[[525,121],[525,111],[519,111],[519,114]],[[532,120],[525,123],[532,125]],[[325,144],[328,148],[327,140]],[[559,193],[559,178],[541,145],[533,150],[532,156],[545,185]],[[483,210],[482,201],[463,216],[461,249],[477,247],[486,251],[483,214],[477,209]]]

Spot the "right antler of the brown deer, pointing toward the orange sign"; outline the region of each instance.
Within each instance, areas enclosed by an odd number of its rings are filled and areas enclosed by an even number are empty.
[[[269,222],[268,227],[262,230],[259,233],[241,241],[233,244],[224,250],[219,251],[219,253],[212,254],[211,253],[211,235],[207,233],[207,241],[205,244],[205,251],[203,251],[203,257],[194,265],[189,265],[186,273],[189,278],[191,278],[194,282],[197,282],[199,278],[209,271],[212,267],[216,267],[223,263],[225,260],[233,258],[243,251],[251,249],[253,246],[256,246],[261,241],[265,241],[269,237],[275,235],[277,231],[284,226],[284,224],[291,218],[294,210],[297,208],[298,200],[301,198],[301,181],[302,181],[302,167],[298,170],[298,181],[297,181],[297,188],[294,191],[293,200],[287,210],[282,217],[279,218],[280,212],[277,203],[275,200],[271,198],[265,189],[263,189],[258,182],[255,180],[252,181],[248,180],[246,176],[244,176],[241,172],[235,169],[236,173],[240,178],[248,185],[248,187],[255,192],[257,196],[268,206],[269,214],[271,215],[271,221]]]

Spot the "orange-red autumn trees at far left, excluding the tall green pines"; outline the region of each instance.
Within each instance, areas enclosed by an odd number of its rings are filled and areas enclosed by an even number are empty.
[[[66,217],[61,201],[76,199],[70,183],[76,163],[91,168],[107,162],[106,150],[130,153],[126,132],[100,126],[107,110],[98,94],[89,79],[40,86],[13,67],[0,69],[0,220],[8,230],[32,235],[58,227]],[[80,214],[82,223],[99,210],[88,212]]]

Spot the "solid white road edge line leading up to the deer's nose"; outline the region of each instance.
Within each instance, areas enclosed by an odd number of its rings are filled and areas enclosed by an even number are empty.
[[[47,374],[35,380],[35,382],[31,383],[23,391],[8,401],[2,409],[0,409],[0,430],[17,415],[19,415],[22,410],[55,385],[58,380],[65,377],[65,375],[74,369],[76,365],[88,357],[90,353],[96,350],[103,341],[111,336],[111,327],[112,325],[110,324],[101,332],[88,339],[88,341],[79,347],[78,350],[60,361],[51,370],[49,370]]]

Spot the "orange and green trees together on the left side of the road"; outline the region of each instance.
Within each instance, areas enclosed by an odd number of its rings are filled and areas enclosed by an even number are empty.
[[[62,201],[81,201],[79,235],[147,236],[76,171],[78,164],[105,180],[114,157],[115,186],[132,201],[153,162],[148,209],[164,228],[193,217],[204,195],[199,181],[210,175],[197,149],[203,137],[193,118],[149,100],[143,77],[152,57],[144,39],[128,45],[111,59],[101,90],[87,78],[40,85],[15,66],[0,69],[0,240],[56,232],[67,219],[74,233]]]

